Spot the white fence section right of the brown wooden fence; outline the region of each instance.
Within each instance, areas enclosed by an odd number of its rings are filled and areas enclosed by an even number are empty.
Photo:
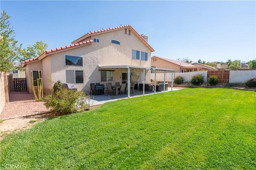
[[[244,83],[246,80],[256,77],[256,70],[230,71],[229,83]]]

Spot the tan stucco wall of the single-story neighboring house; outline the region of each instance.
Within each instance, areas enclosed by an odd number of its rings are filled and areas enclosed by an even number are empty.
[[[153,59],[156,59],[156,61],[153,61]],[[170,63],[168,61],[156,57],[151,58],[151,66],[154,66],[156,68],[174,69],[175,73],[181,72],[179,65]]]

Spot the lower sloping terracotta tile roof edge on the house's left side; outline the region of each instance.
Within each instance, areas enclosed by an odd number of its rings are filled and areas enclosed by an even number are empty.
[[[60,52],[60,51],[64,51],[64,50],[71,49],[71,48],[74,48],[74,47],[79,47],[79,46],[82,46],[82,45],[87,45],[87,44],[90,44],[90,43],[93,43],[93,40],[88,40],[88,41],[85,41],[85,42],[75,43],[75,44],[66,45],[66,46],[63,46],[63,47],[58,47],[58,48],[54,48],[54,49],[44,51],[44,53],[42,53],[39,57],[36,57],[36,58],[33,58],[33,59],[28,59],[26,61],[22,61],[21,66],[24,67],[28,63],[41,60],[49,54],[57,53],[57,52]]]

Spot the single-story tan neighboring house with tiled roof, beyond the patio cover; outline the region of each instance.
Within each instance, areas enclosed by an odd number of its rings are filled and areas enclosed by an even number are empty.
[[[151,66],[156,68],[168,68],[174,69],[175,73],[183,73],[189,71],[198,71],[198,67],[190,63],[185,63],[183,61],[177,61],[174,59],[168,59],[163,57],[153,56],[151,58]]]

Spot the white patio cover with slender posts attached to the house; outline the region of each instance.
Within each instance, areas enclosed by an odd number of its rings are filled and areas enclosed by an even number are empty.
[[[133,66],[133,65],[109,65],[109,66],[101,66],[98,65],[100,69],[128,69],[128,85],[130,87],[130,71],[131,69],[143,69],[143,76],[145,75],[145,70],[153,70],[155,72],[155,84],[154,84],[154,93],[156,93],[156,70],[164,71],[164,89],[165,89],[165,74],[166,71],[172,72],[172,87],[173,87],[173,73],[174,69],[163,69],[163,68],[154,68],[154,67],[140,67],[140,66]],[[143,77],[143,95],[145,94],[145,76]],[[130,88],[128,88],[128,97],[130,97]]]

